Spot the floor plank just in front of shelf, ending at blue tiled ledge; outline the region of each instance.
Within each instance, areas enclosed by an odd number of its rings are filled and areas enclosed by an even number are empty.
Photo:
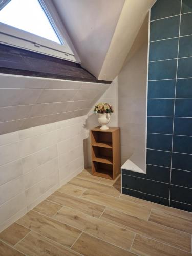
[[[88,180],[83,180],[83,179],[78,179],[78,178],[73,178],[72,180],[69,181],[69,183],[72,185],[75,185],[75,186],[86,188],[86,189],[96,190],[96,191],[99,191],[100,193],[110,195],[113,197],[120,196],[119,191],[112,186],[110,187],[110,186],[103,185],[100,183],[91,182]]]

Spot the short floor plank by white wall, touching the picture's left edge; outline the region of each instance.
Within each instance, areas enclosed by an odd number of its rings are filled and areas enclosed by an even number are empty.
[[[20,226],[17,223],[13,223],[11,226],[9,226],[0,233],[0,239],[10,245],[15,245],[29,232],[30,229]]]

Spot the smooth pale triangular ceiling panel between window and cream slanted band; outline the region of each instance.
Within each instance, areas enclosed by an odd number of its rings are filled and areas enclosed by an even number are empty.
[[[124,2],[125,0],[53,0],[81,65],[96,77],[99,76],[108,52]]]

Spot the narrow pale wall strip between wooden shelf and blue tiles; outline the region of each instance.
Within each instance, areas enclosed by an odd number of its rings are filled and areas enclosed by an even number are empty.
[[[143,171],[145,171],[146,166],[146,63],[147,41],[125,63],[118,75],[121,165],[130,159]]]

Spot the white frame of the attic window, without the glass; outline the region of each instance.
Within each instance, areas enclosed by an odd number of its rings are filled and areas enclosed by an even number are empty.
[[[52,27],[54,28],[61,45],[46,38],[34,35],[24,30],[12,27],[0,22],[0,42],[2,44],[15,46],[18,48],[30,50],[54,56],[61,59],[80,63],[80,59],[67,35],[65,28],[58,16],[56,9],[49,0],[38,0],[44,9]],[[53,18],[54,17],[54,18]],[[69,44],[68,44],[69,43]],[[73,49],[73,51],[71,50]]]

